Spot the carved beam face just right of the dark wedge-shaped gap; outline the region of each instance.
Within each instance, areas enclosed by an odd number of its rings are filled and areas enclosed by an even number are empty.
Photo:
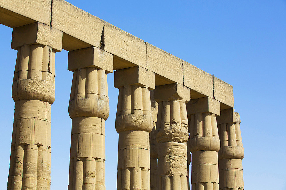
[[[146,45],[143,40],[112,24],[104,24],[105,51],[147,68]]]

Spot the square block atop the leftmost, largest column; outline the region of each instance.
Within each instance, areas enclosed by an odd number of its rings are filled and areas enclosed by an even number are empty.
[[[40,44],[49,46],[55,52],[61,51],[63,32],[43,23],[32,23],[13,29],[11,48],[17,50],[23,45]]]

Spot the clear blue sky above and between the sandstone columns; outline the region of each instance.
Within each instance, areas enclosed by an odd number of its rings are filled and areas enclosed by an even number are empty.
[[[68,2],[233,85],[241,116],[245,189],[286,189],[286,1]],[[7,188],[14,105],[11,87],[17,52],[12,29],[0,25],[0,189]],[[68,52],[56,53],[52,105],[51,189],[67,189],[72,72]],[[116,189],[118,90],[108,74],[106,189]]]

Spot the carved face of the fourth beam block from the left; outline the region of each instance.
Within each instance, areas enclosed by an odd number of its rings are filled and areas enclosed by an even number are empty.
[[[146,42],[147,68],[176,83],[183,84],[182,60]]]

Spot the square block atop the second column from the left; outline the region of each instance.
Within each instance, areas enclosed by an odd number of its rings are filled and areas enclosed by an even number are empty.
[[[106,73],[113,71],[113,55],[96,47],[89,47],[69,52],[67,70],[94,67]]]

